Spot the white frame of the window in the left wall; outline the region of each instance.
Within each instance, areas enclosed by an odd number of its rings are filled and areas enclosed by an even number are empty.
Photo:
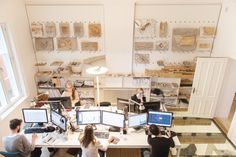
[[[11,33],[8,30],[8,27],[5,23],[0,23],[0,29],[1,29],[0,31],[2,31],[2,34],[3,34],[3,40],[4,40],[3,44],[6,45],[7,55],[9,57],[9,62],[11,66],[10,69],[9,67],[6,67],[6,69],[3,69],[3,70],[9,69],[10,71],[12,71],[16,88],[18,89],[18,93],[19,93],[19,95],[16,98],[11,100],[11,98],[7,96],[6,88],[4,88],[4,82],[0,80],[0,90],[1,90],[0,98],[2,99],[1,100],[2,106],[0,106],[0,114],[2,114],[6,112],[7,110],[9,110],[11,107],[15,106],[15,104],[19,104],[18,102],[22,101],[22,98],[26,96],[26,92],[24,88],[24,81],[22,79],[18,58],[16,55],[16,49],[14,47],[15,44],[13,40],[11,40],[12,39]]]

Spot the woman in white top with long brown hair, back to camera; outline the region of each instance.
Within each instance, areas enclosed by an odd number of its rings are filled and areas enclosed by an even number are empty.
[[[98,150],[106,151],[111,139],[107,140],[107,143],[101,143],[95,138],[93,132],[93,126],[87,125],[84,130],[84,135],[80,138],[80,144],[82,149],[82,157],[100,157]]]

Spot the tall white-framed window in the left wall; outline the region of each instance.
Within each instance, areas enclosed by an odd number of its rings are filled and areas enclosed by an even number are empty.
[[[0,113],[23,96],[8,37],[6,26],[0,24]]]

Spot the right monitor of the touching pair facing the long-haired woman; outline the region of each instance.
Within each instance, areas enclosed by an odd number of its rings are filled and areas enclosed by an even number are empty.
[[[121,113],[102,111],[102,124],[124,128],[125,115]]]

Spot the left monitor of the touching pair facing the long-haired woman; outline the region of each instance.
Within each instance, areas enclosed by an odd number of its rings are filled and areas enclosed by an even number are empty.
[[[100,124],[100,110],[82,110],[76,112],[77,125]]]

